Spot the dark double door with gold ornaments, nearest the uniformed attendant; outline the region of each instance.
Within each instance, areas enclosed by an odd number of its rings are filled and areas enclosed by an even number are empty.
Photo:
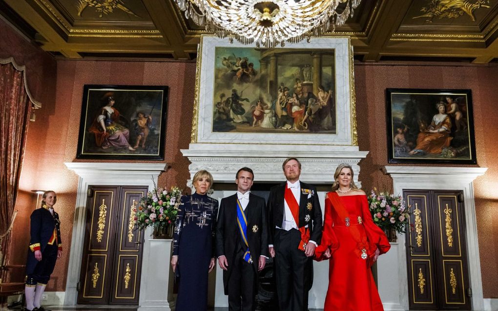
[[[79,304],[138,305],[143,234],[135,215],[147,187],[90,186]]]

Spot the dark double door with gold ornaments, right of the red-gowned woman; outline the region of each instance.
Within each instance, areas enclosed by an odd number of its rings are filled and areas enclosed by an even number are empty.
[[[471,310],[465,213],[460,191],[403,191],[411,310]]]

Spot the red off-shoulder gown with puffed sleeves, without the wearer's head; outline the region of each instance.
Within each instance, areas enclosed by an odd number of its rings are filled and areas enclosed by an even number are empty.
[[[335,192],[331,194],[338,196]],[[377,248],[380,254],[387,252],[391,247],[389,241],[373,223],[365,195],[338,199],[350,215],[350,226],[357,226],[362,239],[367,239],[369,259],[361,258],[362,247],[350,233],[350,227],[345,226],[344,219],[340,219],[327,195],[322,242],[315,252],[318,261],[326,259],[323,252],[327,248],[332,253],[324,311],[383,311],[368,262]]]

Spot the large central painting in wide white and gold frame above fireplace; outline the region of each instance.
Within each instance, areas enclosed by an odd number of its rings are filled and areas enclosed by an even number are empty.
[[[349,37],[262,48],[203,36],[193,143],[353,145]]]

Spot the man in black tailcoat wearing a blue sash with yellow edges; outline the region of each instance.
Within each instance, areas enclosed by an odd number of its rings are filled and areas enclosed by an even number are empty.
[[[268,226],[264,199],[250,193],[254,173],[237,172],[237,194],[221,200],[216,228],[216,252],[223,271],[230,311],[255,309],[257,274],[268,256]]]

